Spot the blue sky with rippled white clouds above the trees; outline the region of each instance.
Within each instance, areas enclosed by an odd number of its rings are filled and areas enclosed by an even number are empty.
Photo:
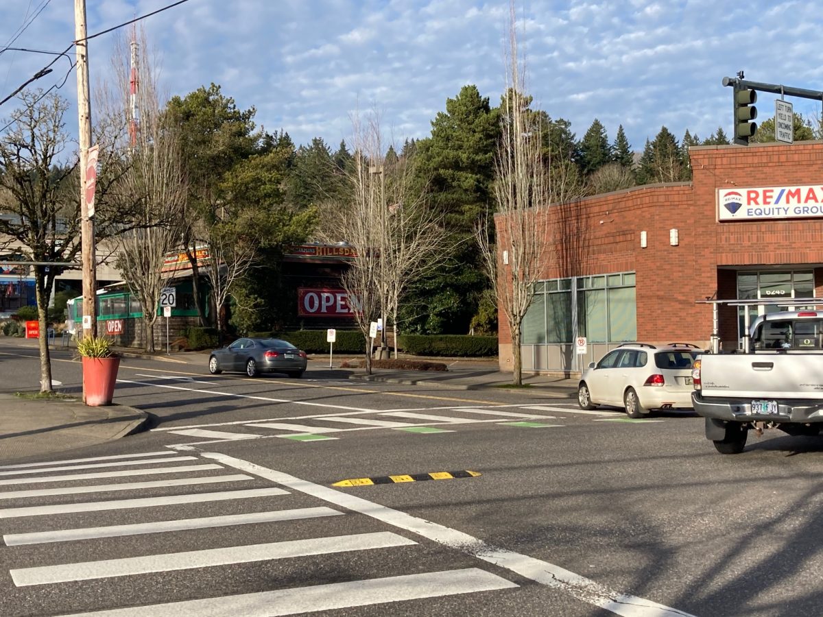
[[[173,2],[86,0],[88,34]],[[66,49],[74,39],[73,4],[2,0],[0,49]],[[635,151],[663,126],[678,140],[686,129],[701,139],[718,127],[731,134],[732,88],[722,80],[741,70],[750,81],[823,90],[816,2],[514,6],[532,107],[570,120],[578,139],[595,118],[610,141],[622,125]],[[402,145],[428,137],[431,121],[463,86],[477,86],[495,106],[506,83],[509,0],[188,0],[141,23],[170,95],[215,82],[240,109],[257,109],[258,125],[282,129],[298,145],[322,137],[335,150],[351,142],[352,118],[371,110],[388,140]],[[111,79],[112,49],[125,30],[89,42],[92,84]],[[0,99],[52,58],[0,53]],[[69,68],[58,58],[32,86],[62,84],[57,91],[72,102],[66,130],[76,137],[77,77]],[[776,98],[758,93],[759,121],[774,114]],[[787,100],[795,112],[821,117],[821,101]],[[0,120],[14,104],[0,106]]]

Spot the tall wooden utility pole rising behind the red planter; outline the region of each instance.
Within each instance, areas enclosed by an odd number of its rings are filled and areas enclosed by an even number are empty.
[[[97,334],[97,271],[95,222],[86,200],[86,171],[91,147],[89,56],[86,41],[86,0],[74,0],[74,36],[77,52],[77,118],[80,128],[80,236],[83,275],[83,336]],[[94,172],[92,172],[94,173]],[[92,202],[94,193],[91,195]]]

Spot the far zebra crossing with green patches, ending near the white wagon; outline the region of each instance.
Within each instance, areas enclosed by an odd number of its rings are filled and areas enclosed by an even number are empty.
[[[517,409],[518,411],[513,411]],[[339,439],[353,431],[389,429],[407,432],[448,433],[462,426],[497,424],[534,428],[562,428],[558,424],[579,413],[603,419],[624,416],[621,411],[582,411],[560,406],[447,407],[436,409],[344,411],[262,420],[235,420],[188,426],[158,427],[154,432],[194,438],[172,443],[170,448],[260,438],[305,438],[305,441]]]

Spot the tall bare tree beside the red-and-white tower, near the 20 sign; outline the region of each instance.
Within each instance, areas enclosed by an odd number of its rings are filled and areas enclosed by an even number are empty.
[[[118,192],[123,202],[137,207],[130,221],[132,229],[122,235],[117,263],[129,289],[141,305],[144,347],[146,351],[153,352],[160,291],[165,281],[174,276],[174,271],[164,271],[165,255],[180,242],[186,183],[180,158],[179,129],[163,113],[156,86],[156,70],[146,53],[145,34],[141,34],[139,51],[134,50],[138,58],[136,106],[139,110],[139,130],[135,130],[135,124],[130,127],[131,141],[125,155],[128,171],[119,183]],[[128,83],[125,80],[128,74],[126,58],[121,42],[113,58],[119,83]],[[122,110],[121,115],[126,118],[128,102],[128,98],[121,98],[119,108],[115,103],[109,113],[116,116]]]

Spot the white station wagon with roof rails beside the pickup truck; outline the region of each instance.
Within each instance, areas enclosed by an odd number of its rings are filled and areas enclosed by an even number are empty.
[[[654,409],[691,409],[691,365],[701,353],[690,343],[624,343],[584,370],[579,406],[624,407],[630,418]]]

